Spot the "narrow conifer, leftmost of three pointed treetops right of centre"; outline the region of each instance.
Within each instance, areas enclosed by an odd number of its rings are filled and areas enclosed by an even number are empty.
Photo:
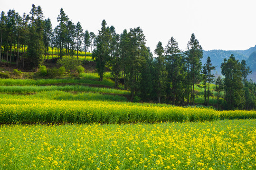
[[[158,96],[158,102],[161,102],[161,96],[163,95],[162,93],[165,90],[165,82],[166,82],[166,76],[167,76],[167,72],[165,70],[165,60],[164,60],[164,50],[162,47],[162,43],[158,42],[156,49],[154,51],[157,54],[157,96]]]

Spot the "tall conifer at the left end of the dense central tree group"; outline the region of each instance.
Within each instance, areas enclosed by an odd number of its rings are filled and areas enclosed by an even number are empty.
[[[97,72],[100,76],[100,81],[103,80],[103,74],[105,72],[106,62],[109,60],[110,55],[110,43],[111,43],[111,34],[109,31],[109,27],[106,27],[106,21],[103,20],[101,24],[101,30],[95,39],[96,43],[96,51],[95,51],[95,59],[96,59],[96,68]]]

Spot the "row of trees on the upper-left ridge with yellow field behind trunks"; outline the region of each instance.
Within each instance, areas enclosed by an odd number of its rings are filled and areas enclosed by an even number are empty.
[[[75,25],[64,10],[57,17],[59,24],[53,29],[50,18],[44,19],[42,8],[32,5],[29,14],[19,15],[15,10],[0,16],[0,61],[14,61],[20,68],[37,68],[43,57],[49,56],[49,47],[55,55],[73,56],[93,45],[95,34]],[[92,47],[91,47],[92,48]],[[91,49],[92,50],[92,49]],[[58,52],[57,52],[58,51]]]

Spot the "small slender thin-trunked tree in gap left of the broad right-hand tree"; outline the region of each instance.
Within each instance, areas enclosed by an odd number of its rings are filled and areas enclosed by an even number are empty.
[[[211,73],[212,70],[215,70],[215,66],[212,66],[210,57],[207,58],[206,64],[206,76],[207,76],[207,83],[208,83],[208,91],[207,91],[207,106],[209,106],[209,96],[210,96],[210,83],[213,82],[214,75]]]

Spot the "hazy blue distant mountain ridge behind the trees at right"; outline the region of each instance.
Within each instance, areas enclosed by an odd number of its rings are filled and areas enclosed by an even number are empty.
[[[248,75],[248,79],[256,82],[256,45],[247,50],[209,50],[203,51],[202,65],[206,63],[207,57],[211,58],[212,64],[217,66],[215,73],[221,75],[220,65],[223,60],[228,59],[233,54],[239,61],[245,59],[246,63],[252,70],[252,74]]]

